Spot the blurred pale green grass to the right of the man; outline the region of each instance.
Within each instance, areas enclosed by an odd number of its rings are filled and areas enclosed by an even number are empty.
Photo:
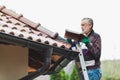
[[[120,80],[120,60],[102,61],[101,80]]]

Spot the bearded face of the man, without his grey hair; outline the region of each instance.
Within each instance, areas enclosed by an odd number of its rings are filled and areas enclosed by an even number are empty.
[[[82,20],[81,29],[84,34],[88,35],[92,29],[92,25],[88,22],[88,20]]]

